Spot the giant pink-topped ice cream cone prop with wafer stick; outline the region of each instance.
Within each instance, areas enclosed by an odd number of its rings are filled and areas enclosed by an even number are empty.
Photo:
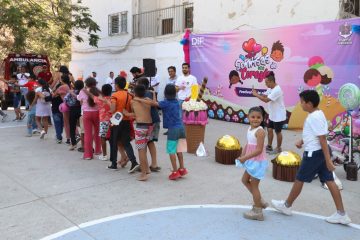
[[[207,105],[201,99],[206,84],[207,78],[204,78],[200,91],[198,85],[192,86],[191,98],[182,105],[188,153],[195,153],[199,144],[204,142],[208,119]]]

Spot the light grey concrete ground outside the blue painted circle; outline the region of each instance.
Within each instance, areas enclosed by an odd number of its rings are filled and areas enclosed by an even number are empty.
[[[185,154],[189,175],[175,182],[167,179],[170,162],[165,152],[166,138],[160,135],[157,149],[162,170],[151,174],[148,182],[138,182],[136,174],[128,174],[127,169],[109,171],[109,162],[81,160],[77,151],[56,144],[53,127],[45,140],[25,137],[25,122],[0,123],[1,239],[39,239],[84,222],[150,208],[252,202],[241,184],[243,171],[214,160],[219,137],[231,134],[245,144],[246,125],[210,121],[205,142],[209,156]],[[300,132],[284,131],[283,149],[299,152],[294,146],[299,137]],[[261,183],[262,194],[266,200],[284,199],[291,183],[274,180],[271,171],[270,167]],[[347,181],[342,167],[336,174],[344,186],[346,210],[353,222],[360,224],[359,182]],[[330,193],[315,180],[305,185],[294,210],[327,216],[335,208]],[[304,227],[296,218],[291,221]],[[312,225],[306,227],[310,231]],[[354,239],[345,237],[342,239]]]

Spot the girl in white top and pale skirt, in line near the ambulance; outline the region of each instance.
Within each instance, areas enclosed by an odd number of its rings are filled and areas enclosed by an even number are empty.
[[[44,139],[49,127],[48,119],[51,116],[52,98],[49,85],[45,80],[39,79],[38,85],[40,87],[35,89],[35,100],[30,107],[32,108],[36,104],[36,124],[39,130],[44,126],[44,129],[40,133],[40,139]]]

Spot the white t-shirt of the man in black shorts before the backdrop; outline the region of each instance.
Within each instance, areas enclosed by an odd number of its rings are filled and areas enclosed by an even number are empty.
[[[286,120],[286,108],[284,104],[284,93],[279,85],[273,89],[268,89],[265,93],[271,100],[268,102],[269,119],[273,122],[282,122]]]

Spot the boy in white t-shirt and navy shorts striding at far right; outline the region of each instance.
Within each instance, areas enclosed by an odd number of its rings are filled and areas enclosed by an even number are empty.
[[[344,210],[340,191],[334,183],[332,171],[335,167],[326,142],[327,121],[324,113],[318,109],[320,97],[314,90],[305,90],[300,93],[300,101],[302,109],[309,113],[304,123],[302,140],[296,143],[297,148],[304,145],[303,159],[286,201],[272,200],[271,203],[279,212],[291,215],[291,206],[300,195],[304,182],[311,182],[318,174],[320,181],[326,182],[337,210],[325,220],[329,223],[349,224],[351,219]]]

